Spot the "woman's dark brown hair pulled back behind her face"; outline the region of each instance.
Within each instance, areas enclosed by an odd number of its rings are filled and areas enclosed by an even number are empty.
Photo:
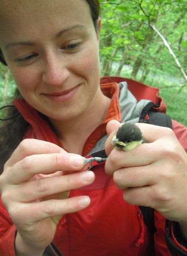
[[[97,20],[100,14],[100,7],[98,0],[86,0],[89,4],[92,20],[94,23],[95,30],[97,31],[98,23]],[[0,49],[0,62],[7,66],[7,63],[4,59],[3,53]],[[22,97],[18,89],[16,89],[16,93],[14,99]],[[8,117],[13,117],[17,113],[17,109],[14,107],[10,107],[7,111]],[[40,114],[40,113],[39,113]],[[10,158],[10,155],[19,145],[21,140],[23,139],[24,133],[28,127],[28,123],[24,120],[24,118],[19,114],[10,120],[1,121],[0,125],[0,174],[3,171],[3,166],[5,162]]]

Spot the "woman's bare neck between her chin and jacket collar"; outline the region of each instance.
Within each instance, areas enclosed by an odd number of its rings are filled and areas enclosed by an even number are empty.
[[[105,120],[110,101],[111,99],[102,94],[81,116],[71,120],[51,120],[56,135],[67,151],[82,154],[82,148],[88,136]]]

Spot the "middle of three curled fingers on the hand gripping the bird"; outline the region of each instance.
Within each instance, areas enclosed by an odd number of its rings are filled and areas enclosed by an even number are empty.
[[[151,165],[122,168],[114,172],[114,182],[121,190],[129,187],[150,186],[159,181],[157,170],[154,169],[156,168]]]

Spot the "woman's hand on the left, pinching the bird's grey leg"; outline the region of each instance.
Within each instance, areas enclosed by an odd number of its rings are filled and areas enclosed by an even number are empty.
[[[36,139],[23,140],[0,176],[3,204],[17,229],[17,255],[42,255],[62,215],[86,208],[87,196],[68,198],[68,191],[91,184],[84,158]]]

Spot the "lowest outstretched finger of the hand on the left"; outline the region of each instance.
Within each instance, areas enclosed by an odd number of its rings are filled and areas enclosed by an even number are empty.
[[[51,199],[35,203],[16,203],[9,211],[9,215],[13,220],[22,219],[22,222],[33,223],[46,218],[81,211],[89,204],[90,198],[88,196],[62,200]]]

